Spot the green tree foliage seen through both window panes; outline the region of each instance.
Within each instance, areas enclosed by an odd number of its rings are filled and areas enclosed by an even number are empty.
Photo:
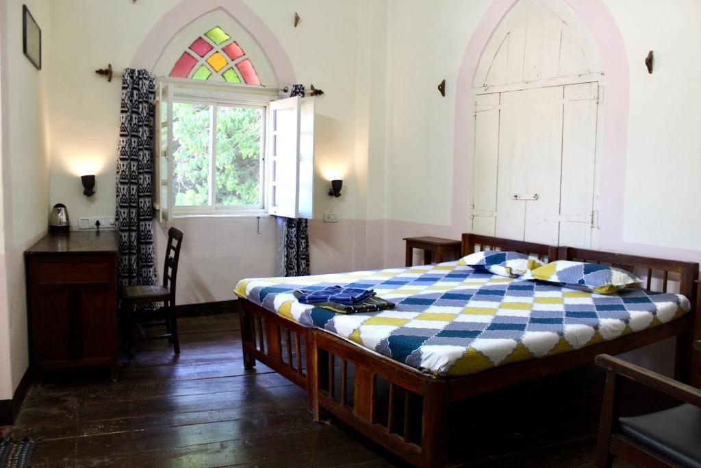
[[[209,205],[210,127],[212,107],[176,103],[173,106],[175,204]],[[219,106],[217,112],[217,205],[259,202],[261,109]]]

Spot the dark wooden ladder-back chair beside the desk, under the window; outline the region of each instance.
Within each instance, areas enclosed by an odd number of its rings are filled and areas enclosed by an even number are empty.
[[[163,335],[149,336],[142,334],[141,339],[155,340],[168,338],[168,342],[173,345],[175,355],[180,355],[180,342],[177,336],[177,318],[175,316],[175,281],[177,279],[177,265],[180,258],[181,244],[182,231],[175,227],[168,229],[168,246],[165,249],[162,286],[122,286],[121,288],[124,342],[130,358],[134,356],[134,305],[149,302],[163,302],[164,321],[149,323],[149,325],[165,325],[165,333]]]

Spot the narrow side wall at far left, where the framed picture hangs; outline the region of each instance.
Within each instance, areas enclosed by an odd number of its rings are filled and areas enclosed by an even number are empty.
[[[50,2],[25,3],[42,29],[46,58],[50,55],[50,41],[46,40],[50,36]],[[50,67],[45,62],[39,72],[22,53],[22,2],[3,1],[0,8],[4,203],[0,279],[5,276],[0,286],[4,292],[0,301],[0,399],[8,399],[29,363],[23,253],[46,232],[48,222]]]

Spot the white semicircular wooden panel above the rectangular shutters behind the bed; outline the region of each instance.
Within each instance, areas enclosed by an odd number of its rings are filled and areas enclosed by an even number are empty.
[[[564,0],[519,0],[482,52],[475,88],[603,72],[597,46]]]

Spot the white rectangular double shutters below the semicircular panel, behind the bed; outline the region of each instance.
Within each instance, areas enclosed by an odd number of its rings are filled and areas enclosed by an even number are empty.
[[[598,91],[477,95],[472,232],[592,247]]]

